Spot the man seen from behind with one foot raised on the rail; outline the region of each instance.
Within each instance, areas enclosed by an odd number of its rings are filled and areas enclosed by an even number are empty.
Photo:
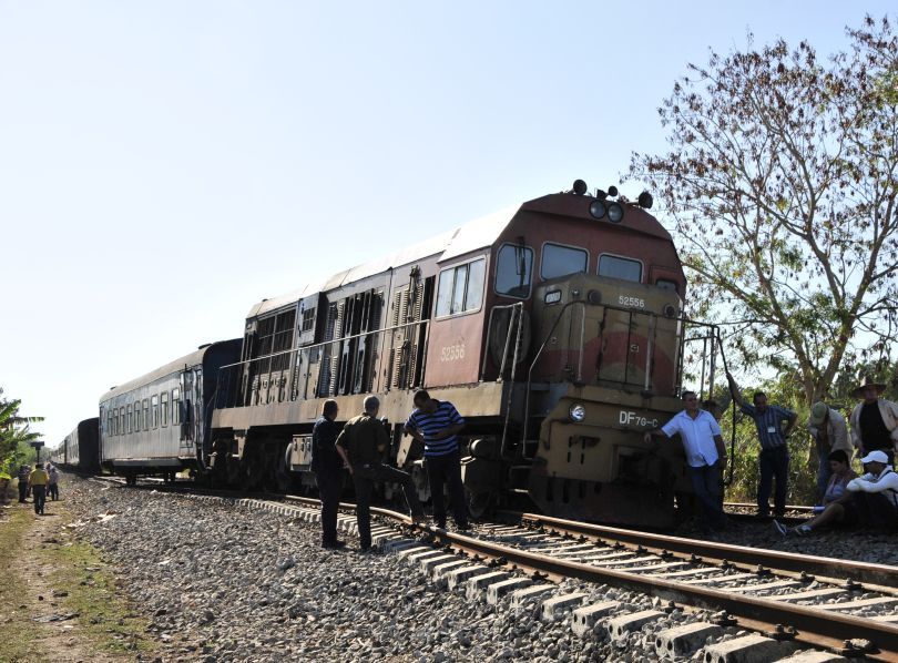
[[[411,477],[402,470],[384,465],[380,460],[389,445],[387,431],[377,419],[380,400],[377,396],[368,396],[364,407],[365,411],[361,415],[353,417],[343,427],[336,447],[349,473],[353,475],[353,483],[356,487],[359,548],[363,552],[367,552],[371,549],[371,492],[375,482],[396,481],[401,484],[412,521],[424,521],[425,514],[411,483]]]

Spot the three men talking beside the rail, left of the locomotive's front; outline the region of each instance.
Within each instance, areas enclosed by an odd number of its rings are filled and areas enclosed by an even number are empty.
[[[424,389],[415,394],[414,402],[416,409],[406,421],[404,431],[424,445],[433,522],[439,528],[446,528],[443,488],[448,486],[456,527],[468,529],[458,445],[458,434],[465,427],[465,419],[451,402],[430,398]],[[368,396],[363,407],[363,414],[353,417],[340,428],[337,422],[337,401],[326,400],[322,416],[313,429],[312,470],[315,472],[322,499],[324,548],[337,549],[345,545],[337,538],[337,508],[344,470],[349,471],[356,490],[356,519],[363,552],[371,549],[370,502],[376,483],[389,481],[401,486],[412,521],[426,520],[411,476],[384,462],[390,440],[385,422],[377,418],[380,400],[376,396]]]

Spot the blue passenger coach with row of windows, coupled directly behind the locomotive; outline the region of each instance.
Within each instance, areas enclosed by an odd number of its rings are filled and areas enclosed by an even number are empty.
[[[104,394],[99,419],[103,469],[130,484],[139,475],[173,481],[181,470],[204,473],[218,369],[236,361],[239,350],[238,338],[203,345]]]

